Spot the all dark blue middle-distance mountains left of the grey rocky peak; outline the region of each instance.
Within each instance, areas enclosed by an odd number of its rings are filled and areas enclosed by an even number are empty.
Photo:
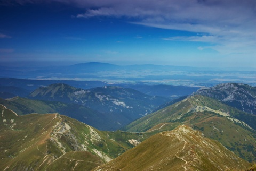
[[[90,89],[76,88],[60,82]],[[47,86],[48,83],[53,84]],[[171,85],[163,85],[163,89],[161,89],[159,87],[161,85],[154,86],[142,83],[117,84],[117,87],[101,81],[23,80],[12,78],[0,78],[0,85],[2,85],[0,86],[0,97],[9,98],[7,101],[2,100],[2,103],[21,115],[58,112],[100,130],[119,129],[134,121],[134,119],[158,109],[166,102],[171,102],[172,99],[181,95],[189,95],[198,89],[198,87]],[[60,85],[62,85],[62,89]],[[134,89],[130,89],[130,87]],[[147,95],[135,89],[144,90]],[[159,95],[163,97],[159,97]],[[31,101],[15,96],[39,100]]]

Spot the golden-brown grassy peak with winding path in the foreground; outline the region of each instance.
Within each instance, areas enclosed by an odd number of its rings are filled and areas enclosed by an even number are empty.
[[[151,136],[94,170],[242,170],[249,163],[189,126]]]

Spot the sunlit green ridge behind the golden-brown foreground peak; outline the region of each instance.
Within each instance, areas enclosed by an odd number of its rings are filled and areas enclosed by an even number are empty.
[[[246,116],[244,114],[215,99],[194,96],[132,122],[126,131],[157,133],[185,124],[253,161],[256,160],[256,131],[235,118]]]

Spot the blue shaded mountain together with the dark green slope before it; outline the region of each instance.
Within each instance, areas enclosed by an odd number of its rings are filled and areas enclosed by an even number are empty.
[[[2,104],[19,114],[58,112],[100,130],[120,129],[169,101],[129,88],[104,86],[84,90],[62,83],[36,89],[29,98],[34,101],[14,97],[2,100]]]

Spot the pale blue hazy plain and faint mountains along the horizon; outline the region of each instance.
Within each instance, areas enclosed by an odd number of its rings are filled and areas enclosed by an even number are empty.
[[[101,80],[109,83],[146,82],[185,86],[214,86],[223,82],[255,84],[252,71],[234,71],[171,65],[113,65],[89,62],[68,66],[2,66],[0,77],[35,80]],[[48,84],[49,85],[49,84]],[[71,85],[71,84],[70,84]],[[74,86],[74,85],[71,85]]]

